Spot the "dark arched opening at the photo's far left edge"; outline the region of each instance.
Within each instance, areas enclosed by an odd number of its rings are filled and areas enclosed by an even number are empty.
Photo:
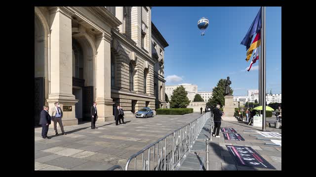
[[[40,112],[45,103],[45,31],[40,18],[35,14],[35,30],[34,30],[34,82],[35,82],[35,126],[40,126]]]

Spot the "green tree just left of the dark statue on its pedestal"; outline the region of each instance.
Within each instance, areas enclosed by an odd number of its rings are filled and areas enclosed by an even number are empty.
[[[212,98],[208,100],[206,106],[216,107],[217,104],[223,106],[225,104],[225,84],[226,79],[220,79],[217,86],[213,89]],[[233,94],[233,89],[230,87],[230,93]]]

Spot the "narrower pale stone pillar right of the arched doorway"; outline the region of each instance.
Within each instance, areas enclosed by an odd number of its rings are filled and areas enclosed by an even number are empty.
[[[111,98],[111,36],[102,33],[97,36],[96,58],[96,102],[97,121],[114,120]]]

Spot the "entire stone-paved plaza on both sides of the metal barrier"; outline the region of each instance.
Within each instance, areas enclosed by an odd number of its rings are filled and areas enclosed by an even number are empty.
[[[90,122],[65,126],[67,135],[55,136],[52,124],[48,136],[41,138],[41,128],[35,128],[35,170],[106,170],[114,165],[125,167],[127,159],[147,145],[173,132],[201,116],[192,113],[183,116],[157,115],[154,118],[125,118],[126,124],[115,125],[115,121],[97,122],[98,129],[91,129]],[[273,121],[275,118],[268,118]],[[176,170],[205,170],[205,139],[209,137],[210,119],[191,151]],[[260,127],[244,122],[222,121],[221,127],[234,128],[245,141],[225,140],[212,137],[209,144],[209,170],[270,170],[238,166],[226,145],[249,146],[256,150],[276,170],[281,170],[281,147],[265,145],[272,143],[258,140],[254,136]],[[59,133],[60,128],[58,128]],[[281,133],[281,129],[267,127],[267,131]],[[263,137],[260,137],[263,138]],[[268,138],[269,139],[269,138]]]

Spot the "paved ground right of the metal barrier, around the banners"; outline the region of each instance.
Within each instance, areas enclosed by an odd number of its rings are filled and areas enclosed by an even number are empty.
[[[271,118],[273,121],[274,118]],[[225,140],[223,133],[220,131],[220,138],[212,137],[209,143],[209,170],[272,170],[265,168],[254,168],[248,166],[238,166],[233,156],[228,151],[226,145],[246,146],[253,148],[266,161],[268,161],[276,170],[281,170],[281,147],[274,145],[265,145],[266,143],[274,144],[270,140],[258,140],[255,136],[259,135],[256,131],[261,131],[261,127],[247,125],[246,122],[222,121],[221,127],[234,128],[245,141]],[[207,120],[204,127],[198,135],[197,141],[182,161],[177,170],[206,170],[206,138],[209,138],[210,119]],[[244,130],[253,130],[248,132]],[[277,132],[281,134],[281,129],[266,127],[267,132]],[[265,137],[258,137],[265,138]],[[277,138],[265,138],[277,139]]]

